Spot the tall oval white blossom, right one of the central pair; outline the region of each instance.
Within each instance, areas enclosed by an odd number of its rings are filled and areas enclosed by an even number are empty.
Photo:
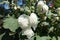
[[[39,22],[37,15],[35,13],[31,13],[31,15],[29,16],[29,21],[30,21],[31,27],[35,30]]]

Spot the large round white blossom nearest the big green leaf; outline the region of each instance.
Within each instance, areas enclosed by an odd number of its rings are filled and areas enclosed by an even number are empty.
[[[18,18],[18,23],[22,29],[29,27],[28,16],[25,14],[20,15],[20,17]]]

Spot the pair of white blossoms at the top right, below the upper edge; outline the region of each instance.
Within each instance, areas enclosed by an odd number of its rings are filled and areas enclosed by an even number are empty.
[[[48,13],[49,7],[46,5],[45,1],[39,1],[37,4],[37,8],[39,10],[39,13],[41,13],[40,11],[42,11],[42,13]]]

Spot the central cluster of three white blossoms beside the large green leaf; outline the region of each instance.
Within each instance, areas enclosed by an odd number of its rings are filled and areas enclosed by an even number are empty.
[[[38,17],[35,13],[31,13],[30,16],[22,14],[18,18],[18,23],[22,28],[22,35],[26,35],[27,38],[34,36],[34,32],[31,27],[35,30],[38,24]]]

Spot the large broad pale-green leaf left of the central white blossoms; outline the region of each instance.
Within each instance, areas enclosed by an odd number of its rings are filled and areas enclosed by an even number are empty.
[[[6,18],[4,20],[4,28],[10,29],[12,32],[15,32],[15,30],[19,27],[17,19],[13,17]]]

